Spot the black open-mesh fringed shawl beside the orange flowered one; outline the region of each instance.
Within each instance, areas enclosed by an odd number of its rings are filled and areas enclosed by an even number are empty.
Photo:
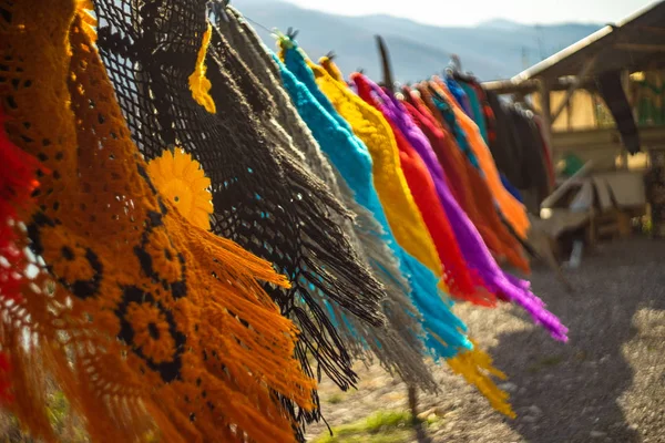
[[[300,329],[296,354],[306,373],[324,372],[345,390],[355,385],[352,358],[330,312],[344,310],[381,326],[385,292],[331,216],[348,213],[288,146],[265,131],[275,104],[218,30],[209,28],[205,0],[160,0],[142,8],[130,0],[121,8],[119,1],[95,3],[104,23],[98,44],[116,92],[133,97],[121,106],[142,154],[154,159],[176,145],[201,163],[212,183],[213,233],[272,261],[289,278],[289,289],[266,290]],[[191,91],[208,32],[207,94],[224,110],[216,114]],[[173,34],[173,41],[163,42],[163,34]],[[319,416],[316,392],[313,401],[314,415],[298,413],[298,419]]]

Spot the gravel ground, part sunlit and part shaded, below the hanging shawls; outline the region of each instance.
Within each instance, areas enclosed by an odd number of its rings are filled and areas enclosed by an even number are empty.
[[[532,276],[534,291],[570,328],[566,344],[516,308],[457,306],[471,334],[509,375],[501,385],[519,416],[504,419],[473,388],[436,367],[442,393],[419,396],[419,411],[440,418],[427,430],[429,441],[665,442],[665,243],[601,245],[566,277],[575,293],[566,293],[546,269]],[[340,393],[321,382],[331,426],[407,409],[403,383],[376,365],[358,372],[357,391]],[[326,426],[308,431],[313,437]]]

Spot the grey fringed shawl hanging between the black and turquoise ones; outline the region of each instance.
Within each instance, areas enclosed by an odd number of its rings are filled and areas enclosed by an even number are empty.
[[[380,236],[381,226],[369,210],[356,202],[344,178],[335,175],[328,159],[324,157],[318,143],[299,117],[277,79],[287,84],[288,90],[298,97],[295,101],[304,113],[317,112],[316,109],[307,111],[308,106],[316,106],[314,97],[290,72],[279,72],[279,66],[238,11],[227,8],[227,17],[228,22],[219,23],[222,29],[226,31],[225,34],[232,35],[234,48],[248,62],[253,72],[260,76],[262,83],[273,92],[282,114],[277,120],[288,127],[289,134],[294,134],[295,148],[303,154],[305,162],[309,162],[319,177],[325,177],[331,189],[337,189],[345,204],[356,214],[355,223],[345,225],[350,229],[349,237],[357,239],[359,250],[366,253],[372,271],[386,288],[388,296],[383,301],[383,311],[388,319],[386,328],[368,328],[354,322],[354,318],[348,316],[337,322],[336,326],[342,329],[347,322],[354,326],[352,331],[356,332],[356,337],[349,337],[348,340],[354,340],[358,344],[352,348],[349,343],[347,348],[355,352],[355,357],[366,361],[371,361],[375,354],[390,373],[399,374],[409,384],[433,390],[434,381],[422,359],[423,349],[417,333],[420,328],[416,308],[409,300],[409,282],[401,276],[397,258]],[[371,350],[369,354],[368,349]]]

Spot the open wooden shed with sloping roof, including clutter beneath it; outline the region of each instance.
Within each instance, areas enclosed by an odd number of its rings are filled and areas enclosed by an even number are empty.
[[[542,116],[555,164],[570,154],[593,163],[593,172],[574,184],[591,198],[587,234],[592,243],[630,234],[631,217],[646,210],[645,192],[636,177],[649,166],[649,150],[665,146],[665,110],[661,110],[656,123],[637,119],[642,152],[627,154],[596,90],[595,79],[607,72],[621,72],[636,116],[636,90],[645,75],[658,79],[653,93],[662,94],[657,100],[665,103],[665,1],[602,28],[510,80],[483,84],[499,94],[512,95]],[[625,187],[635,195],[627,197],[622,190]],[[617,195],[627,203],[618,203]],[[560,200],[559,208],[567,210],[570,203]]]

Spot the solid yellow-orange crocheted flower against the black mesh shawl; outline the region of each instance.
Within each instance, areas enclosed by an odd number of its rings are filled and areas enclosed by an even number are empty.
[[[192,225],[211,229],[213,214],[211,179],[201,164],[176,147],[147,164],[147,174],[157,190],[170,199]]]

